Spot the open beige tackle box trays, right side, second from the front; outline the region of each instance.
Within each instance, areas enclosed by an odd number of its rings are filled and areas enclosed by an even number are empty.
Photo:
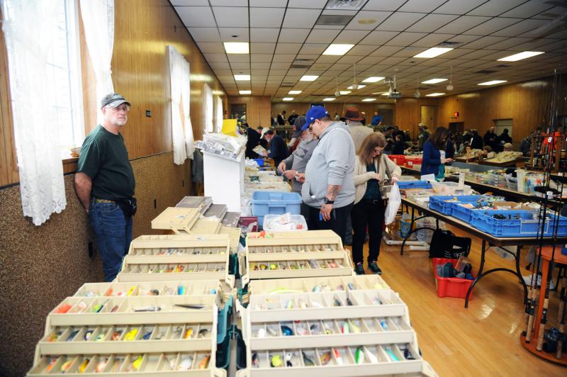
[[[258,235],[249,233],[246,238],[243,285],[252,279],[353,274],[349,254],[335,232],[267,232],[266,238]]]

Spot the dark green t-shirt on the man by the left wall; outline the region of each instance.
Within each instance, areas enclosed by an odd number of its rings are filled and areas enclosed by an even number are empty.
[[[91,177],[91,196],[116,200],[134,196],[136,182],[121,134],[98,125],[83,142],[77,171]]]

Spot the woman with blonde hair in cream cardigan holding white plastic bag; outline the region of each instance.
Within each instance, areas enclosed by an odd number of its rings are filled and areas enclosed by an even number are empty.
[[[396,182],[400,179],[402,170],[391,159],[383,154],[386,138],[382,133],[368,135],[357,152],[354,164],[354,206],[351,211],[352,230],[352,261],[354,271],[364,274],[362,264],[362,247],[366,238],[366,228],[369,233],[368,266],[374,274],[381,274],[378,267],[378,254],[382,240],[384,224],[384,202],[380,186],[384,181]]]

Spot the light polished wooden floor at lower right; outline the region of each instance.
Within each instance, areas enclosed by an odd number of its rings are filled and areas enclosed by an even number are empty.
[[[451,229],[457,235],[459,230]],[[473,237],[470,258],[480,265],[481,240]],[[368,252],[367,244],[364,253]],[[522,249],[522,275],[527,250]],[[412,327],[423,357],[439,376],[567,376],[567,368],[530,354],[520,344],[524,326],[522,285],[507,272],[484,277],[473,291],[469,308],[464,299],[438,298],[427,252],[400,256],[399,247],[382,243],[378,265],[382,277],[408,305]],[[366,255],[365,255],[366,260]],[[507,266],[488,252],[485,269]],[[365,265],[366,268],[366,265]],[[368,274],[369,271],[367,270]],[[552,292],[551,321],[556,323],[556,292]]]

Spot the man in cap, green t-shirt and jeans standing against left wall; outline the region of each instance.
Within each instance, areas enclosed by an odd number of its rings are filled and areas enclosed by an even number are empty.
[[[130,103],[120,94],[103,97],[103,124],[86,135],[74,179],[77,196],[96,235],[106,281],[113,281],[120,271],[132,240],[135,179],[120,134],[129,108]]]

